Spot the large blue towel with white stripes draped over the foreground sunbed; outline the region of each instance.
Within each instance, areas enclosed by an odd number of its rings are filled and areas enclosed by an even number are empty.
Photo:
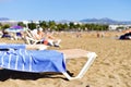
[[[66,72],[63,53],[55,50],[0,51],[0,67],[23,72]]]

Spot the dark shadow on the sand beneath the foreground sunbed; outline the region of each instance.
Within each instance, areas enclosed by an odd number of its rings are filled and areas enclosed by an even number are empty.
[[[61,75],[61,73],[27,73],[27,72],[17,72],[17,71],[10,71],[10,70],[0,70],[0,82],[4,82],[9,78],[12,79],[38,79],[38,78],[62,78],[67,80],[67,78],[62,76],[55,76]]]

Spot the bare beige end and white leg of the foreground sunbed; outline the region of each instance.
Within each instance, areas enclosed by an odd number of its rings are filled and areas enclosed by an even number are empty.
[[[87,59],[84,66],[82,67],[82,70],[75,77],[71,77],[68,73],[63,73],[63,75],[69,80],[82,78],[97,57],[97,54],[95,52],[90,52],[90,51],[82,50],[82,49],[59,50],[59,52],[64,53],[66,59],[79,59],[79,58]]]

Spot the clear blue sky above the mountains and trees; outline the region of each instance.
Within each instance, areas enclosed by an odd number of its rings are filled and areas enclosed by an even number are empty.
[[[0,0],[0,17],[16,21],[131,21],[131,0]]]

